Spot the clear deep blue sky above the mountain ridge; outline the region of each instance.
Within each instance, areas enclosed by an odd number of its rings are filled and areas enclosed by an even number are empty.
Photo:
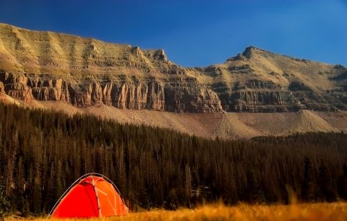
[[[347,66],[347,0],[0,0],[0,22],[162,48],[183,67],[251,45]]]

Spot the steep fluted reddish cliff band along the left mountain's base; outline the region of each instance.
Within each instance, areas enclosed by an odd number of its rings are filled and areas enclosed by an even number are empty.
[[[214,91],[196,82],[163,83],[153,78],[124,82],[86,82],[83,85],[49,76],[13,75],[0,72],[0,91],[31,102],[56,100],[77,107],[112,105],[119,109],[150,109],[169,112],[221,112],[220,100]]]

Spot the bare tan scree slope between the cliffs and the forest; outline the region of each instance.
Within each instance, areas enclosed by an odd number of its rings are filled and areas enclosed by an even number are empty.
[[[347,132],[347,112],[297,113],[171,113],[117,109],[106,105],[78,108],[63,102],[37,101],[35,107],[69,114],[86,113],[119,123],[151,125],[206,138],[250,139],[254,136],[287,135],[293,132]]]

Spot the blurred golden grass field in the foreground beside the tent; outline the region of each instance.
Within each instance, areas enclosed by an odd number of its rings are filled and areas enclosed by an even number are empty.
[[[5,220],[10,221],[16,219],[6,218]],[[44,221],[45,218],[31,220]],[[347,202],[294,204],[289,206],[251,206],[247,204],[239,204],[237,206],[208,205],[201,206],[198,209],[144,211],[130,213],[122,217],[91,220],[347,220]]]

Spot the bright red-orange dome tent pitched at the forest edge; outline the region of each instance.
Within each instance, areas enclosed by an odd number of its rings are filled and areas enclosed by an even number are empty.
[[[83,175],[60,197],[51,210],[53,218],[96,218],[126,215],[128,207],[118,188],[98,173]]]

